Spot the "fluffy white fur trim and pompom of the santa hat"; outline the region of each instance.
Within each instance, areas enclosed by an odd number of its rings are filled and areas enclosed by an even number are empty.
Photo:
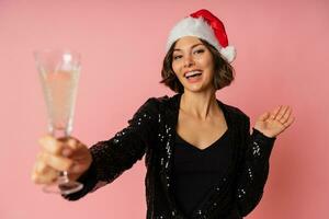
[[[204,21],[203,18],[192,18],[188,16],[177,23],[173,28],[170,31],[167,45],[166,53],[170,49],[171,45],[179,38],[184,36],[195,36],[208,42],[213,45],[220,55],[228,61],[232,62],[236,57],[236,49],[234,46],[227,46],[223,48],[218,43],[213,28],[207,22]]]

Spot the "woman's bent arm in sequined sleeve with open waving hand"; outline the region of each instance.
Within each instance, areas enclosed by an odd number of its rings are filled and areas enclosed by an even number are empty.
[[[248,215],[262,197],[269,174],[269,159],[276,136],[295,120],[292,107],[280,105],[258,117],[250,136],[250,119],[247,115],[246,117],[246,147],[237,187],[238,206],[242,216]]]

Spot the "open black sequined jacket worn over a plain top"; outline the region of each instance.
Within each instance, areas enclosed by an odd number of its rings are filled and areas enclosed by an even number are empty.
[[[145,154],[147,219],[185,219],[171,193],[172,150],[181,94],[150,97],[128,120],[128,126],[90,148],[92,164],[79,181],[82,191],[64,196],[76,200],[113,182]],[[260,201],[269,174],[269,159],[275,138],[252,128],[239,108],[224,104],[232,124],[234,155],[227,173],[208,195],[193,218],[238,219]]]

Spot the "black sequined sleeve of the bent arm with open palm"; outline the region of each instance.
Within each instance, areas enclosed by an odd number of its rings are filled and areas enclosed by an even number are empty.
[[[250,135],[250,119],[247,118],[245,123],[243,159],[240,163],[236,191],[241,216],[251,212],[262,198],[269,174],[269,159],[276,139],[275,137],[266,137],[254,128],[252,128]]]

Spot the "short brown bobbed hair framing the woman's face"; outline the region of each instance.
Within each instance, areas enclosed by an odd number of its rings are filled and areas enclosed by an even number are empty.
[[[227,85],[229,85],[235,79],[235,70],[234,67],[226,61],[219,54],[219,51],[208,44],[206,41],[200,41],[209,49],[211,54],[213,55],[214,60],[214,87],[216,90],[220,90]],[[164,85],[169,87],[172,91],[177,93],[183,93],[184,87],[177,78],[174,71],[172,70],[172,54],[174,49],[174,42],[170,49],[168,50],[167,55],[163,59],[163,66],[161,70],[162,80],[160,83],[164,83]]]

